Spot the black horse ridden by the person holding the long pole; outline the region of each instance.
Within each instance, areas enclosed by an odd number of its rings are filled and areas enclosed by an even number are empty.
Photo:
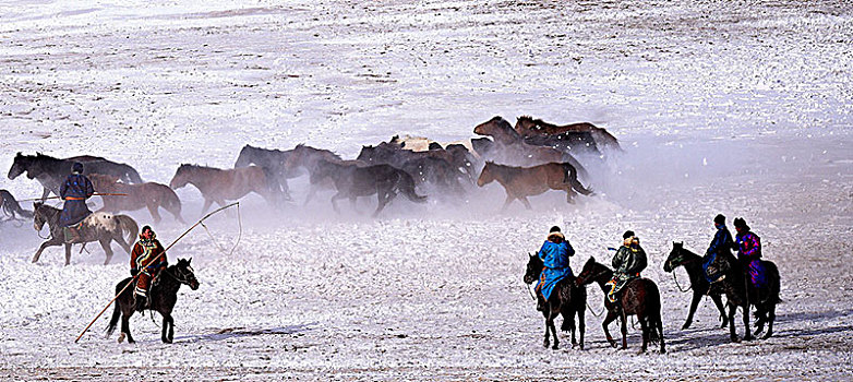
[[[171,317],[171,312],[175,303],[178,302],[178,289],[180,289],[182,284],[188,285],[192,290],[199,289],[199,280],[195,279],[195,271],[190,266],[190,262],[192,262],[192,259],[179,259],[177,264],[164,270],[159,275],[159,283],[155,284],[149,291],[151,305],[145,309],[163,315],[163,334],[160,338],[165,344],[171,344],[175,336],[175,320]],[[124,341],[124,336],[128,337],[128,343],[135,343],[130,334],[130,318],[135,312],[133,286],[124,288],[132,280],[133,278],[128,277],[116,284],[116,294],[121,293],[121,295],[116,300],[112,319],[109,320],[109,326],[107,326],[107,337],[116,331],[119,315],[121,315],[119,343]],[[122,293],[121,289],[124,289],[124,291]]]

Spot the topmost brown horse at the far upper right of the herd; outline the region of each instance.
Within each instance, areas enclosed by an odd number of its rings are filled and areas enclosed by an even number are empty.
[[[581,144],[588,145],[589,148],[622,150],[615,136],[589,122],[556,126],[530,116],[521,116],[515,122],[515,131],[525,139],[556,138],[568,142],[569,145]]]

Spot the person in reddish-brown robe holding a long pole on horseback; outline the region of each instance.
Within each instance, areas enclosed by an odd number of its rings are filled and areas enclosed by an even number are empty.
[[[163,254],[163,255],[160,255]],[[154,230],[149,226],[142,227],[140,241],[133,246],[130,254],[130,274],[136,276],[136,290],[133,296],[136,298],[136,310],[142,311],[148,307],[148,295],[153,280],[165,270],[167,265],[166,250],[156,239]]]

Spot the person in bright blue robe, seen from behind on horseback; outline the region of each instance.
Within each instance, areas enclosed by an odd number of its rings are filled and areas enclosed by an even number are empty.
[[[539,276],[539,284],[536,286],[538,296],[536,309],[541,311],[557,282],[575,276],[568,266],[568,258],[575,255],[575,249],[560,231],[560,227],[553,226],[537,254],[544,263],[544,268]]]

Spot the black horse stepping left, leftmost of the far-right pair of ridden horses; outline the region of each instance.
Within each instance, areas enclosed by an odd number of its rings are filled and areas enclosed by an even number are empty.
[[[684,325],[682,326],[683,330],[690,327],[690,323],[693,323],[693,314],[696,313],[696,308],[699,306],[699,301],[701,301],[702,296],[706,295],[711,297],[711,300],[713,300],[713,303],[720,311],[720,321],[722,321],[722,325],[720,327],[725,327],[729,325],[729,317],[725,314],[725,309],[723,308],[722,289],[720,289],[718,286],[711,288],[708,279],[705,278],[705,271],[702,271],[701,263],[702,258],[684,249],[683,242],[672,243],[672,251],[670,252],[670,256],[666,258],[666,262],[663,263],[664,272],[674,272],[678,266],[684,266],[684,270],[687,271],[687,276],[690,278],[693,300],[690,300],[690,311],[687,313],[687,321],[685,321]]]

